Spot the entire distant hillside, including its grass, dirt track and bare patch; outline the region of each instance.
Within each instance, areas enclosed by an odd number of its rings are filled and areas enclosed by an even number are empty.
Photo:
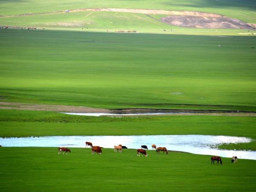
[[[65,10],[69,12],[65,13]],[[250,33],[254,33],[252,29],[255,28],[256,23],[256,6],[253,0],[246,2],[140,0],[136,3],[133,0],[64,0],[61,4],[58,1],[27,0],[3,2],[0,15],[1,26],[58,30],[85,29],[101,32],[133,30],[167,34],[237,35],[248,33],[243,29],[249,29]],[[195,31],[193,28],[208,29]],[[175,30],[172,31],[173,29]],[[211,29],[236,30],[216,32]]]

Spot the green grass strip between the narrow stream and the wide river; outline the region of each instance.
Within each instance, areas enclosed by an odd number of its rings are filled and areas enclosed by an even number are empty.
[[[255,150],[256,118],[233,116],[87,117],[0,110],[0,137],[58,135],[227,135],[253,138],[225,149]],[[222,147],[222,148],[223,148]]]

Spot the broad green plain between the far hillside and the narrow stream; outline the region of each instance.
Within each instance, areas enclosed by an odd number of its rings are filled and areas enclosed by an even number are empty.
[[[0,34],[0,95],[7,101],[256,110],[255,37],[13,29]]]

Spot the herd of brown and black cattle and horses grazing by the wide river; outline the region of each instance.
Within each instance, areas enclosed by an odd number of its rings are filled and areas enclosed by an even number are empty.
[[[101,147],[101,146],[93,146],[93,143],[88,142],[88,141],[85,142],[85,146],[86,147],[90,146],[92,148],[92,155],[94,153],[98,153],[100,155],[102,154],[102,148],[103,147]],[[152,144],[151,147],[152,147],[152,149],[156,149],[157,154],[160,154],[160,151],[162,151],[163,154],[164,154],[164,152],[166,152],[166,154],[168,154],[168,150],[166,149],[166,147],[157,147],[155,144]],[[114,152],[115,153],[117,153],[117,150],[118,150],[119,153],[122,153],[122,151],[123,151],[122,149],[127,149],[127,147],[126,146],[122,146],[121,144],[119,144],[118,146],[114,146]],[[145,157],[148,157],[148,154],[145,151],[145,149],[148,150],[148,147],[146,145],[142,145],[141,149],[137,149],[137,156],[140,157],[140,154],[141,154],[142,157],[143,157],[143,155]],[[71,153],[70,149],[68,149],[66,147],[59,147],[58,148],[58,154],[60,154],[61,152],[62,152],[62,154],[64,154],[65,152],[66,152],[66,154],[67,154],[67,152]],[[218,156],[212,156],[211,157],[211,161],[212,161],[211,164],[214,164],[215,160],[217,161],[216,164],[219,164],[219,162],[220,162],[221,165],[222,165],[222,160]],[[231,163],[237,163],[237,157],[236,156],[233,156],[233,158],[231,160]]]

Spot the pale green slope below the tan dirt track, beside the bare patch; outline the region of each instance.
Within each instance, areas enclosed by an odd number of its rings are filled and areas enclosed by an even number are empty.
[[[193,35],[241,35],[248,29],[195,29],[172,26],[161,22],[166,15],[145,15],[123,12],[79,11],[28,15],[21,17],[0,17],[2,26],[37,27],[51,30],[72,30],[82,32],[111,32],[126,30],[153,34],[193,34]],[[165,30],[165,31],[163,31]],[[250,30],[253,32],[253,30]]]

